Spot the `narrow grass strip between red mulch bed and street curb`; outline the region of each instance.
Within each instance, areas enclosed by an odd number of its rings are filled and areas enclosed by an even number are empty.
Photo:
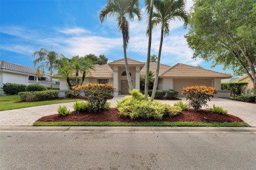
[[[245,122],[35,122],[33,126],[249,127]]]

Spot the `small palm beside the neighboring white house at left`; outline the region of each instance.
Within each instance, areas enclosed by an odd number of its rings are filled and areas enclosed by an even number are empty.
[[[58,54],[54,51],[49,51],[45,48],[40,48],[39,51],[33,52],[32,57],[35,58],[35,56],[38,56],[37,59],[33,61],[33,65],[39,64],[37,69],[41,69],[44,71],[45,68],[50,71],[51,75],[51,90],[53,90],[53,72],[58,68],[58,59],[63,58],[64,56],[62,54]]]

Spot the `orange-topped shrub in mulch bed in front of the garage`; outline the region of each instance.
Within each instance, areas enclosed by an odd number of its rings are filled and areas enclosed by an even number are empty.
[[[207,101],[217,93],[217,89],[207,86],[190,86],[183,88],[182,94],[189,99],[188,105],[194,108],[194,112],[203,106],[208,106]]]

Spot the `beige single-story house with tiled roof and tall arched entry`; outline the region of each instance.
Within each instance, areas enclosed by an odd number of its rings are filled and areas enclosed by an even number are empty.
[[[139,90],[140,76],[145,74],[146,64],[135,59],[127,58],[127,60],[133,88]],[[155,72],[156,65],[156,62],[151,62],[150,70]],[[230,93],[228,94],[226,91],[221,90],[221,79],[224,78],[231,78],[231,76],[182,63],[177,63],[173,66],[161,64],[158,89],[174,89],[181,96],[182,88],[186,86],[205,85],[217,88],[219,90],[217,97],[230,97]],[[116,86],[114,96],[129,93],[124,59],[112,61],[105,65],[95,65],[95,71],[89,71],[83,84],[89,82],[113,84]],[[60,90],[69,90],[65,79],[60,79]]]

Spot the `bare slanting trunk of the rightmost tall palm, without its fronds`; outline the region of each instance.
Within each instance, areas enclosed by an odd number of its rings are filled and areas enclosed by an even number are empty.
[[[156,77],[155,82],[153,86],[151,101],[154,100],[155,94],[156,94],[156,88],[158,87],[158,75],[159,75],[159,68],[160,68],[160,58],[161,58],[161,46],[163,45],[163,25],[161,25],[161,40],[160,40],[160,46],[158,51],[158,65],[156,66]]]

